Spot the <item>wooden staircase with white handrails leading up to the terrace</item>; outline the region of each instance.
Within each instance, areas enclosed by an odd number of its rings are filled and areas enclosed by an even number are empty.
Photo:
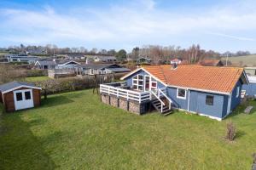
[[[151,91],[151,100],[154,109],[164,116],[172,113],[172,99],[166,95],[166,88],[159,88],[156,92]]]

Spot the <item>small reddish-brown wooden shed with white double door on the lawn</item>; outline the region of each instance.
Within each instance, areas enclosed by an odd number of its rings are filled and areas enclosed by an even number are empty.
[[[0,85],[0,102],[7,112],[18,111],[41,104],[41,88],[27,82],[9,82]]]

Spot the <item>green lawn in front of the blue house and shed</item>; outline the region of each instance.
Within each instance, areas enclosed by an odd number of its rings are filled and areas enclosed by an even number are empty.
[[[241,170],[256,152],[256,112],[223,122],[183,112],[137,116],[102,104],[92,90],[42,102],[0,117],[0,169]],[[232,143],[224,139],[231,120]]]

